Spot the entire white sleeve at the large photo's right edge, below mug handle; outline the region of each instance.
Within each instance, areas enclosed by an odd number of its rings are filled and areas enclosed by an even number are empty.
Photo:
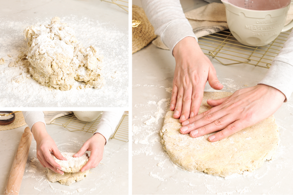
[[[272,86],[285,96],[285,102],[293,92],[293,31],[284,43],[280,53],[272,60],[271,68],[258,83]]]

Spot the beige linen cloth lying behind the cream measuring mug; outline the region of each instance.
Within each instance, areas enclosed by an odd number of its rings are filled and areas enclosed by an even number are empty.
[[[229,29],[223,3],[209,3],[185,13],[185,17],[191,24],[197,38]],[[293,20],[293,6],[288,11],[285,25],[291,20]],[[152,43],[161,49],[169,50],[160,37],[157,37]]]

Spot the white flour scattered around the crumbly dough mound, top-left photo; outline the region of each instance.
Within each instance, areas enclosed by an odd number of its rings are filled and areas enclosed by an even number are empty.
[[[28,77],[26,70],[13,66],[21,52],[26,50],[27,41],[23,39],[23,30],[27,26],[38,26],[48,21],[50,18],[23,18],[18,21],[5,17],[0,19],[0,58],[6,56],[6,63],[0,65],[0,82],[5,83],[1,88],[0,106],[66,108],[70,105],[73,108],[129,108],[130,37],[113,23],[73,15],[61,19],[61,22],[74,29],[76,39],[85,47],[92,45],[104,56],[103,75],[106,84],[102,89],[77,89],[83,84],[74,81],[69,91],[55,88],[50,90]],[[7,56],[8,54],[11,57]],[[13,63],[9,68],[10,62]],[[115,78],[112,78],[113,75]]]

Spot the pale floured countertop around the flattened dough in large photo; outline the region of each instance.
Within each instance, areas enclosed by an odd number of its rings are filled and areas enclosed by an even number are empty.
[[[141,5],[139,0],[132,4]],[[203,0],[181,0],[189,11],[205,5]],[[211,58],[210,58],[211,59]],[[211,59],[212,60],[212,59]],[[293,98],[274,114],[279,125],[280,145],[272,161],[253,173],[241,176],[209,176],[188,173],[175,166],[161,144],[159,134],[169,107],[175,60],[170,51],[149,44],[130,56],[131,62],[131,195],[287,195],[293,179]],[[268,69],[246,64],[223,66],[212,63],[222,91],[234,92],[251,87]],[[214,91],[206,85],[206,91]],[[269,106],[269,105],[268,105]]]

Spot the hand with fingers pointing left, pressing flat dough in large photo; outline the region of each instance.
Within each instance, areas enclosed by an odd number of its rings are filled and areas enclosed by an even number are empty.
[[[222,130],[209,137],[209,141],[218,141],[272,116],[285,98],[276,88],[258,84],[226,98],[208,99],[213,108],[184,121],[180,133],[200,137]]]

